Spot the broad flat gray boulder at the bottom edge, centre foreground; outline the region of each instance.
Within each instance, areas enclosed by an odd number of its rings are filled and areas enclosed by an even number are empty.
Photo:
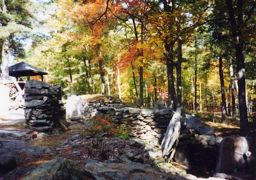
[[[89,163],[83,168],[83,174],[95,180],[166,180],[167,174],[140,163]]]

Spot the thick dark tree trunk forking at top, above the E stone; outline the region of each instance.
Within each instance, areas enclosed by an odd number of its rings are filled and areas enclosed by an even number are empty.
[[[236,49],[240,135],[250,136],[250,128],[246,106],[245,57],[243,55],[243,42],[241,39],[241,37],[243,37],[243,33],[245,32],[244,28],[246,26],[246,22],[243,22],[243,0],[237,0],[237,22],[233,9],[232,0],[226,0],[226,6],[228,9],[229,22],[231,25],[232,36],[234,38],[234,44]]]

